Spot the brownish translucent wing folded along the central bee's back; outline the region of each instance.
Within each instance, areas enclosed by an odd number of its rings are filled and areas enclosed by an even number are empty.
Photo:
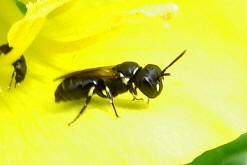
[[[85,69],[80,71],[75,71],[54,79],[54,81],[59,79],[66,79],[69,77],[78,77],[78,78],[108,78],[108,79],[116,79],[119,78],[120,75],[117,71],[113,70],[114,66],[104,66],[98,68]]]

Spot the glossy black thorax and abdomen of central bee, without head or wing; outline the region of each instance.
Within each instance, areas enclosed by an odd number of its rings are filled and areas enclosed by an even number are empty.
[[[55,91],[55,101],[59,102],[85,98],[92,86],[96,87],[94,93],[103,98],[107,97],[105,88],[108,86],[112,96],[115,97],[118,94],[132,89],[130,82],[132,82],[132,79],[135,77],[133,73],[136,69],[141,69],[137,63],[124,62],[112,68],[112,70],[122,73],[123,77],[102,79],[101,77],[78,78],[72,76],[66,78],[59,84]],[[126,77],[130,78],[130,81],[124,84],[123,78]]]

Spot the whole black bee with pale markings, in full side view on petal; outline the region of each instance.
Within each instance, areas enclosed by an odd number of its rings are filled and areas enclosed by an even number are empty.
[[[80,117],[91,101],[93,94],[108,98],[116,117],[119,117],[113,97],[129,91],[135,100],[137,99],[137,88],[148,98],[157,97],[163,89],[163,77],[170,75],[170,73],[165,73],[166,70],[185,52],[186,50],[163,70],[153,64],[148,64],[142,68],[135,62],[124,62],[115,66],[86,69],[63,75],[55,79],[63,79],[55,91],[55,102],[86,98],[81,111],[68,125]]]

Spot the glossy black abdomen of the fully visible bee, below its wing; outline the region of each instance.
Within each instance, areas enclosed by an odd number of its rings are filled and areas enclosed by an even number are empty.
[[[95,80],[68,78],[56,89],[55,102],[85,98],[90,88],[96,84]]]

